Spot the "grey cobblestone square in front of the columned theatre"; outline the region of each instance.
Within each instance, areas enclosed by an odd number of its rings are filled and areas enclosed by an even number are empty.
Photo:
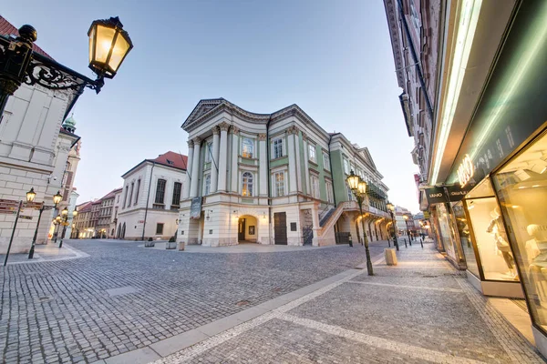
[[[93,362],[181,334],[356,267],[362,247],[185,254],[72,240],[87,258],[0,271],[0,358]],[[376,256],[386,242],[371,244]]]

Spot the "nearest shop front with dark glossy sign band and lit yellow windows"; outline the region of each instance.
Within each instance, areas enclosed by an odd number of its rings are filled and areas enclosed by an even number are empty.
[[[547,355],[547,2],[521,2],[445,185],[471,283],[524,297]]]

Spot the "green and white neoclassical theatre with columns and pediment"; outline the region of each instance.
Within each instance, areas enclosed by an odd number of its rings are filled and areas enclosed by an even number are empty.
[[[300,107],[254,114],[201,100],[182,128],[189,153],[179,242],[334,245],[349,234],[361,241],[361,218],[368,238],[387,238],[387,187],[367,149],[325,132]],[[351,169],[371,187],[363,217],[346,187]]]

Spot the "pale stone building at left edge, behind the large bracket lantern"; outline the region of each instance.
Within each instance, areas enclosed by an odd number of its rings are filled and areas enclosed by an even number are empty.
[[[17,30],[0,16],[4,35],[17,35]],[[35,52],[48,56],[35,45]],[[53,196],[62,183],[73,136],[60,136],[61,124],[73,106],[77,92],[52,91],[42,86],[23,84],[7,100],[0,116],[0,199],[26,200],[26,192],[34,187],[36,202],[53,205]],[[58,139],[62,139],[59,141]],[[57,167],[60,174],[54,179]],[[53,210],[44,211],[38,229],[37,243],[46,242]],[[38,211],[24,211],[32,220],[20,220],[15,230],[12,253],[30,248],[36,229]],[[5,252],[12,234],[15,215],[0,214],[0,251]]]

